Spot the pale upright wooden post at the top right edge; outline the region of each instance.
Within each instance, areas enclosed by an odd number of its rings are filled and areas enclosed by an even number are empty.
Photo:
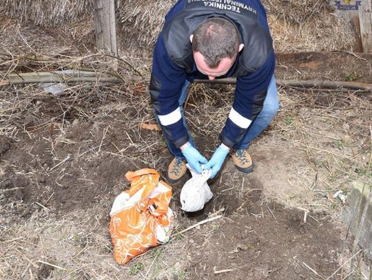
[[[360,36],[364,52],[372,52],[372,1],[364,0],[359,6]]]

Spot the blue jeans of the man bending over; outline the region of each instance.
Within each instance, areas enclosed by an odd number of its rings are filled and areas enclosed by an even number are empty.
[[[178,100],[178,104],[180,106],[180,111],[183,116],[183,124],[187,127],[185,122],[185,112],[183,110],[183,103],[187,98],[187,87],[189,86],[189,81],[185,81],[185,85],[181,89],[180,99]],[[262,110],[260,114],[251,122],[251,125],[248,127],[245,136],[234,146],[234,149],[247,149],[249,147],[249,143],[251,140],[254,140],[257,136],[260,135],[262,131],[270,124],[273,117],[276,115],[276,112],[279,109],[279,100],[278,100],[278,91],[276,89],[276,81],[275,77],[273,76],[269,83],[269,88],[267,89],[267,96],[263,103]],[[156,120],[160,125],[160,121],[158,119],[158,115],[154,112]],[[169,152],[172,153],[176,158],[185,158],[178,147],[172,142],[171,139],[167,137],[166,133],[163,133],[165,140],[168,144]],[[189,142],[192,146],[195,146],[194,141],[192,140],[192,136],[189,133]]]

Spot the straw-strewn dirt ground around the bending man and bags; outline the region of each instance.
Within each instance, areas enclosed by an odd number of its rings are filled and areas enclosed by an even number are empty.
[[[278,54],[277,60],[277,78],[372,79],[371,54]],[[149,61],[137,63],[143,72]],[[1,88],[0,278],[344,279],[352,270],[345,262],[351,239],[338,219],[342,202],[332,195],[372,179],[371,92],[344,89],[278,86],[278,116],[249,148],[254,173],[236,171],[228,159],[210,182],[213,200],[193,215],[178,202],[187,177],[173,185],[175,231],[223,217],[174,235],[126,266],[115,263],[108,213],[129,186],[125,173],[152,167],[164,175],[171,160],[161,132],[143,128],[155,123],[146,77],[70,85],[61,97],[39,85]],[[187,122],[207,156],[233,90],[189,89]]]

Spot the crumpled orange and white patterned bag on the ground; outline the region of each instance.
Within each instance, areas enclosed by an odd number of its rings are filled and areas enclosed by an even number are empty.
[[[130,171],[125,177],[132,182],[130,189],[115,198],[110,212],[114,258],[120,264],[169,241],[174,224],[172,188],[159,181],[155,169]]]

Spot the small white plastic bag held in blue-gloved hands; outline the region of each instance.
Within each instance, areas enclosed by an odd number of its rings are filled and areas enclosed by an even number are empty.
[[[181,209],[186,212],[196,212],[203,209],[204,204],[213,197],[207,184],[207,180],[211,177],[211,169],[203,170],[202,166],[203,171],[199,174],[190,168],[189,164],[187,164],[187,168],[192,173],[192,178],[187,180],[181,190]]]

